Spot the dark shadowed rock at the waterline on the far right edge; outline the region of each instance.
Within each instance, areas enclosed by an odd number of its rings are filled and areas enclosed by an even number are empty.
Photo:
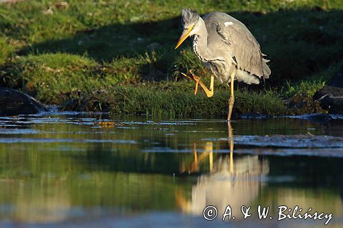
[[[314,94],[314,99],[320,102],[322,109],[329,110],[329,113],[343,114],[343,64],[327,86]]]

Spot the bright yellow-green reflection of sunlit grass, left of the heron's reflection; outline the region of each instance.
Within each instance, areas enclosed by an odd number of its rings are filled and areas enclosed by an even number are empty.
[[[69,168],[56,164],[60,168]],[[69,168],[70,169],[70,168]],[[84,210],[101,207],[108,212],[131,214],[175,208],[177,188],[189,191],[188,183],[173,181],[172,176],[136,173],[78,171],[67,177],[11,179],[1,188],[0,203],[10,203],[14,211],[0,218],[12,217],[24,222],[56,222],[73,216],[77,207]],[[39,213],[38,213],[39,212]],[[71,214],[69,214],[71,213]]]

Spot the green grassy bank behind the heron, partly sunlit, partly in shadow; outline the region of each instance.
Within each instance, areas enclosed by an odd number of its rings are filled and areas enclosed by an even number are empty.
[[[271,60],[261,86],[237,84],[235,113],[318,112],[314,92],[342,60],[340,1],[23,1],[0,4],[0,85],[64,109],[224,115],[229,93],[193,95],[180,75],[209,75],[190,42],[174,50],[180,10],[224,11],[245,23]],[[301,107],[285,101],[300,97]],[[296,99],[294,99],[296,100]]]

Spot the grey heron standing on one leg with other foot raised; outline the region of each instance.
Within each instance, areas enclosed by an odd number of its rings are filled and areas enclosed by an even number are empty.
[[[214,77],[230,87],[228,102],[228,121],[230,121],[235,96],[233,81],[246,84],[259,84],[268,79],[271,73],[261,53],[259,42],[248,28],[236,18],[224,12],[211,12],[202,17],[190,9],[182,10],[183,31],[178,40],[177,49],[189,36],[193,38],[193,51],[198,59],[211,71],[210,88],[207,88],[199,77],[191,73],[196,81],[194,93],[198,85],[207,97],[213,96]],[[185,75],[182,73],[182,75]],[[187,75],[185,75],[188,77]]]

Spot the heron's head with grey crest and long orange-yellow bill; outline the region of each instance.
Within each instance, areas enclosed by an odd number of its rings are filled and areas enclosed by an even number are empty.
[[[181,23],[183,27],[182,34],[178,40],[178,44],[175,49],[177,49],[187,37],[197,34],[199,14],[191,9],[183,9],[181,12]]]

